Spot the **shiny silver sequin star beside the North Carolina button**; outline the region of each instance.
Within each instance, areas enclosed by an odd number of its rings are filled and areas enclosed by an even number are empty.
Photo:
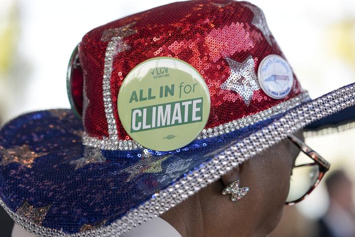
[[[254,91],[259,90],[257,77],[254,71],[254,59],[249,55],[243,62],[237,62],[226,57],[231,74],[220,88],[233,90],[243,99],[246,106],[249,106]]]

